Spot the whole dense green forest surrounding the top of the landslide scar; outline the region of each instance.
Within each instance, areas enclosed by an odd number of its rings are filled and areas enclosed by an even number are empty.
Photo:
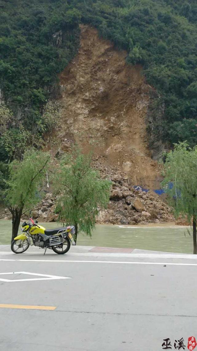
[[[79,24],[85,23],[125,49],[128,64],[142,65],[154,88],[155,138],[196,145],[196,21],[195,0],[0,0],[0,88],[15,116],[9,129],[16,138],[21,120],[30,133],[39,126],[47,100],[58,92],[58,73],[79,48]],[[4,142],[0,157],[6,158]]]

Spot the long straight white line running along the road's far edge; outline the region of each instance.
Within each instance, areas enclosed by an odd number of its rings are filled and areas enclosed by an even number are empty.
[[[197,263],[168,263],[168,262],[127,262],[127,261],[82,261],[82,260],[8,260],[0,261],[20,261],[20,262],[72,262],[72,263],[116,263],[116,264],[157,264],[171,266],[197,266]],[[38,275],[38,274],[36,274]],[[65,278],[65,277],[63,277]],[[59,279],[59,278],[58,278]]]

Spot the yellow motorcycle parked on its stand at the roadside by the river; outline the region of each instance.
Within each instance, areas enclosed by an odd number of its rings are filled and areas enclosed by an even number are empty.
[[[52,249],[55,253],[64,254],[70,249],[70,243],[75,245],[73,234],[75,227],[68,226],[56,229],[45,229],[38,225],[38,221],[30,218],[28,222],[23,222],[21,226],[22,234],[14,238],[11,250],[14,253],[25,252],[29,245],[38,246],[40,249]],[[45,254],[45,253],[44,253]]]

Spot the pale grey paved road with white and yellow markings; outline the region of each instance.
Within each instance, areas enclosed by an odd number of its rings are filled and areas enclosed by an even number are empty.
[[[8,250],[0,250],[0,350],[160,351],[166,338],[172,350],[183,338],[187,350],[197,338],[195,257]]]

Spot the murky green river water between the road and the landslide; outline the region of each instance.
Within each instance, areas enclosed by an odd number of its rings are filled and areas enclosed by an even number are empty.
[[[47,229],[58,226],[55,222],[40,223]],[[61,225],[59,225],[61,226]],[[132,247],[133,249],[154,250],[165,252],[192,253],[192,236],[187,228],[173,225],[122,226],[97,224],[92,237],[78,235],[77,245],[103,247]],[[12,223],[9,220],[0,220],[0,244],[9,244],[11,239]]]

